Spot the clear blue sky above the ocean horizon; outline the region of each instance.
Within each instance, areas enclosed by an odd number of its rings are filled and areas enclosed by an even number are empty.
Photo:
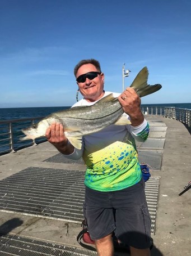
[[[122,92],[147,66],[162,89],[142,104],[191,102],[190,0],[1,0],[0,107],[71,106],[81,59]],[[81,98],[81,96],[79,96]]]

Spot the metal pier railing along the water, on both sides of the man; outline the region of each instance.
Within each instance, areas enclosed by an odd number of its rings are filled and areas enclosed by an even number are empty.
[[[162,115],[165,118],[171,118],[184,123],[185,126],[191,128],[191,109],[181,109],[177,107],[141,107],[142,113],[145,115]],[[35,120],[43,119],[44,116],[20,118],[0,121],[0,155],[7,152],[15,152],[17,149],[36,145],[36,143],[45,141],[46,139],[20,141],[19,137],[24,135],[22,128],[29,127],[34,124]]]

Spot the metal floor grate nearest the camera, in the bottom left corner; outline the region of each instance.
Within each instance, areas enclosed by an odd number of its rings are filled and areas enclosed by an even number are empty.
[[[18,235],[0,234],[1,256],[94,256],[95,251],[90,251],[74,246],[58,244],[44,240],[32,239]]]

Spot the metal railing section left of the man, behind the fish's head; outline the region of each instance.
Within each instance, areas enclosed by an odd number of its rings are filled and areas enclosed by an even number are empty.
[[[44,117],[44,116],[43,116]],[[21,141],[20,137],[24,136],[21,129],[29,127],[39,119],[43,118],[21,118],[0,121],[0,155],[8,152],[15,152],[23,147],[28,147],[45,141],[45,138],[36,140]]]

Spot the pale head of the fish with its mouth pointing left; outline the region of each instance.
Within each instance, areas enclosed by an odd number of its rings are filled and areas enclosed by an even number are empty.
[[[22,137],[20,140],[34,140],[35,138],[44,137],[48,127],[49,123],[46,119],[43,119],[38,123],[34,123],[30,127],[21,130],[25,133],[26,137]]]

